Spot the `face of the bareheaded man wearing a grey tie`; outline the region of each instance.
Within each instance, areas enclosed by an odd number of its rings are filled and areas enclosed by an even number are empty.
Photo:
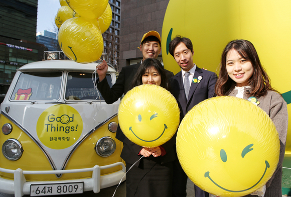
[[[175,48],[174,58],[183,70],[189,71],[194,66],[193,54],[194,52],[188,49],[187,46],[181,42]]]

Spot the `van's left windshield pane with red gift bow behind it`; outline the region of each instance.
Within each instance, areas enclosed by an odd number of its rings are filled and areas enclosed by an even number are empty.
[[[22,72],[11,95],[11,100],[58,100],[61,83],[62,72]]]

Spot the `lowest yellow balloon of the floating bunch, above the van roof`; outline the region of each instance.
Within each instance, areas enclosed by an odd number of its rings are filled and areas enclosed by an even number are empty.
[[[103,38],[99,28],[82,17],[65,21],[58,40],[62,51],[73,61],[94,62],[102,55]]]

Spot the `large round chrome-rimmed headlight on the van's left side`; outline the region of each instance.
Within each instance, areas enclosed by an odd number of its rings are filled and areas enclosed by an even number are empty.
[[[2,153],[7,159],[16,161],[22,156],[22,145],[16,139],[8,139],[2,146]]]

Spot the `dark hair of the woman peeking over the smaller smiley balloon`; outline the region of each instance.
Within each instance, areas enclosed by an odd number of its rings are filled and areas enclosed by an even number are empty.
[[[137,72],[135,73],[133,77],[131,87],[141,85],[143,74],[152,67],[155,68],[158,71],[158,73],[161,75],[160,86],[169,90],[169,83],[167,80],[165,69],[159,60],[153,59],[153,58],[147,58],[142,61],[141,65],[138,67]]]

